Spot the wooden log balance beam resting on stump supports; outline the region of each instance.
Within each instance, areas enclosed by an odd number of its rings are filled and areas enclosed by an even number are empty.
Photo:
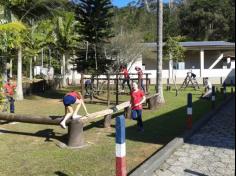
[[[159,94],[147,97],[147,104],[149,109],[155,109],[157,107],[157,97]],[[67,145],[71,148],[79,148],[84,146],[84,125],[94,121],[98,118],[104,117],[104,127],[111,126],[111,119],[119,114],[125,114],[126,118],[131,118],[130,102],[124,102],[112,108],[89,114],[88,116],[81,117],[80,119],[71,119],[67,121],[68,124],[68,141]],[[23,122],[32,124],[43,125],[60,125],[62,116],[37,116],[37,115],[19,115],[0,113],[0,120],[6,120],[8,122]]]

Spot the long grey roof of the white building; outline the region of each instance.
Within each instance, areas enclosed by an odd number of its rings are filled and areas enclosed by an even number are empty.
[[[165,45],[165,43],[164,43]],[[225,41],[198,41],[198,42],[180,42],[180,45],[187,50],[235,50],[235,43]],[[157,48],[156,43],[145,43],[147,48]]]

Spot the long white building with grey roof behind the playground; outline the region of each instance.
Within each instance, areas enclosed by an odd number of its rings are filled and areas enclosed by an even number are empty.
[[[199,83],[202,84],[204,77],[209,77],[212,83],[221,84],[224,81],[228,83],[235,82],[235,43],[224,41],[206,41],[206,42],[182,42],[180,43],[186,49],[186,59],[181,63],[176,63],[172,71],[168,60],[163,62],[163,83],[167,78],[170,81],[176,77],[178,84],[184,81],[187,72],[192,71],[197,75]],[[143,68],[144,73],[150,73],[151,83],[156,83],[156,59],[157,44],[145,43],[146,54],[140,56],[134,64],[129,64],[130,73],[136,73],[135,67]],[[79,83],[80,74],[74,73],[76,83]],[[72,71],[68,74],[72,82]]]

